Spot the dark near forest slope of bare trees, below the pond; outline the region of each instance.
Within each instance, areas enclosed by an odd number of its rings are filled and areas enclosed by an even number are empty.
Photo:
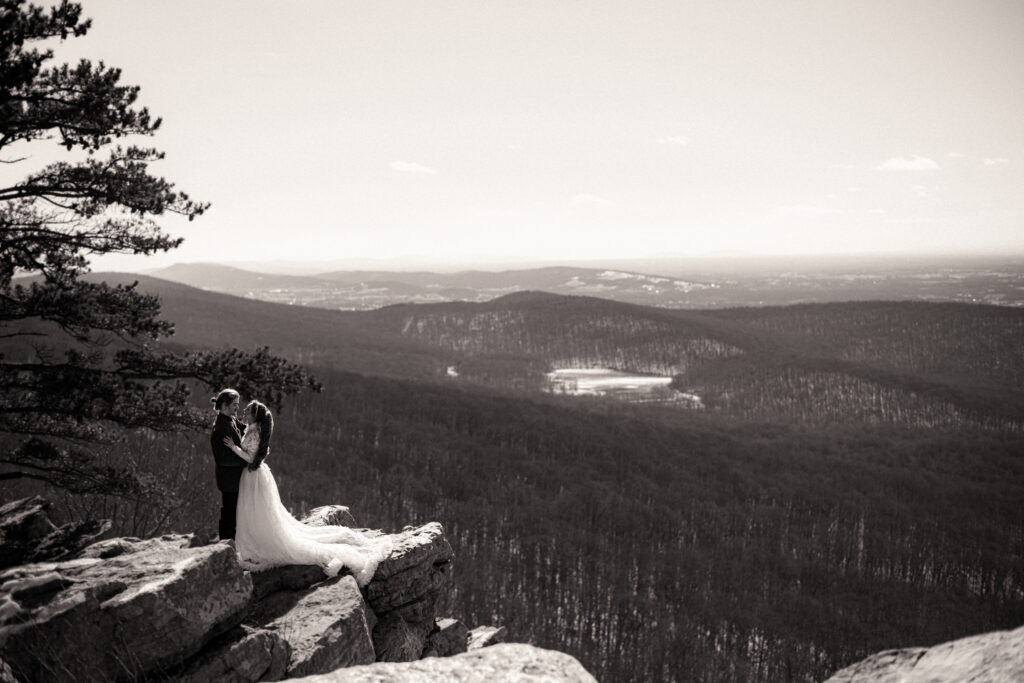
[[[441,521],[450,611],[599,680],[817,681],[1024,622],[1020,435],[321,379],[278,416],[285,504],[344,503],[388,529]],[[205,435],[145,447],[193,497],[173,526],[210,532]]]

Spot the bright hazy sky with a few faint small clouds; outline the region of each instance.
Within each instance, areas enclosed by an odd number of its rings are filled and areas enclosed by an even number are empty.
[[[116,265],[1024,251],[1017,0],[83,5],[213,204]]]

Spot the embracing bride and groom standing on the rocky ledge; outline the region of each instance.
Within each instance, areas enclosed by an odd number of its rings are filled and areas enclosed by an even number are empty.
[[[258,400],[237,417],[241,396],[224,389],[211,399],[217,421],[210,436],[220,489],[220,539],[234,540],[240,563],[250,569],[283,564],[318,564],[329,577],[347,567],[366,586],[377,564],[391,552],[391,539],[347,526],[310,526],[281,503],[266,457],[273,416]]]

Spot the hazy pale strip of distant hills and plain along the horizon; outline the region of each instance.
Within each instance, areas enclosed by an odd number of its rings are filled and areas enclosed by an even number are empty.
[[[179,263],[148,274],[263,301],[346,310],[395,303],[480,302],[522,291],[596,296],[665,308],[882,299],[1024,306],[1024,268],[986,261],[965,262],[957,267],[911,263],[891,271],[855,264],[699,278],[570,266],[454,273],[336,270],[293,275],[215,263]]]

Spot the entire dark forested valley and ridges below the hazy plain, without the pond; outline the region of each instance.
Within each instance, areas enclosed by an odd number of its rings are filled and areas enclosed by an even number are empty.
[[[697,313],[526,294],[341,313],[144,286],[176,343],[269,344],[324,382],[278,416],[286,505],[343,503],[387,528],[441,521],[452,613],[574,654],[599,680],[820,680],[872,651],[1024,622],[1024,435],[1008,379],[1022,311]],[[889,360],[901,340],[914,364]],[[662,364],[647,369],[707,408],[523,381],[563,362]],[[487,385],[447,377],[457,364]],[[206,435],[165,438],[127,447],[177,483],[168,526],[212,529]],[[91,503],[69,511],[159,528],[152,502]]]

